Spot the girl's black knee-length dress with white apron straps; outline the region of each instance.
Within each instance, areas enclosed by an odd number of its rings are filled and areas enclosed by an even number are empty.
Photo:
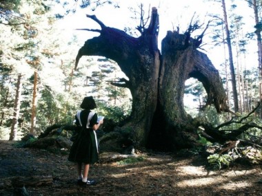
[[[97,124],[97,113],[82,110],[77,113],[75,118],[77,126],[81,127],[81,131],[72,144],[68,160],[70,162],[94,164],[98,161],[98,146],[97,135],[92,127]]]

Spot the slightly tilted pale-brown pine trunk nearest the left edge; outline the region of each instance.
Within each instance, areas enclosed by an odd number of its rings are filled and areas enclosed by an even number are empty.
[[[12,117],[12,126],[10,132],[9,140],[17,140],[17,127],[18,127],[18,118],[20,113],[20,104],[21,104],[21,88],[22,88],[22,75],[19,74],[17,77],[17,90],[14,100],[14,113]]]

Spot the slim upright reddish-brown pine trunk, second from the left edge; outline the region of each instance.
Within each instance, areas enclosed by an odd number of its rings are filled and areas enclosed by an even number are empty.
[[[31,114],[31,129],[30,133],[34,134],[34,128],[37,121],[37,70],[34,71],[34,87],[32,94],[32,114]]]

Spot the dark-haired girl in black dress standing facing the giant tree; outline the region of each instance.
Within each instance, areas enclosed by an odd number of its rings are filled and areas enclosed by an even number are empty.
[[[94,185],[94,180],[88,179],[90,164],[98,161],[98,144],[95,131],[103,124],[103,120],[97,122],[97,113],[91,111],[97,107],[92,96],[85,97],[80,107],[83,109],[75,116],[76,124],[80,127],[80,132],[72,144],[68,160],[77,162],[77,174],[79,185]],[[82,174],[83,164],[83,174]]]

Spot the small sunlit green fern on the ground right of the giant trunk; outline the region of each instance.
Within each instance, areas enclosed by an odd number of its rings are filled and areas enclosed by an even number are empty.
[[[233,158],[228,154],[214,154],[208,156],[208,164],[210,164],[210,167],[214,170],[220,170],[223,166],[230,166],[232,161]]]

